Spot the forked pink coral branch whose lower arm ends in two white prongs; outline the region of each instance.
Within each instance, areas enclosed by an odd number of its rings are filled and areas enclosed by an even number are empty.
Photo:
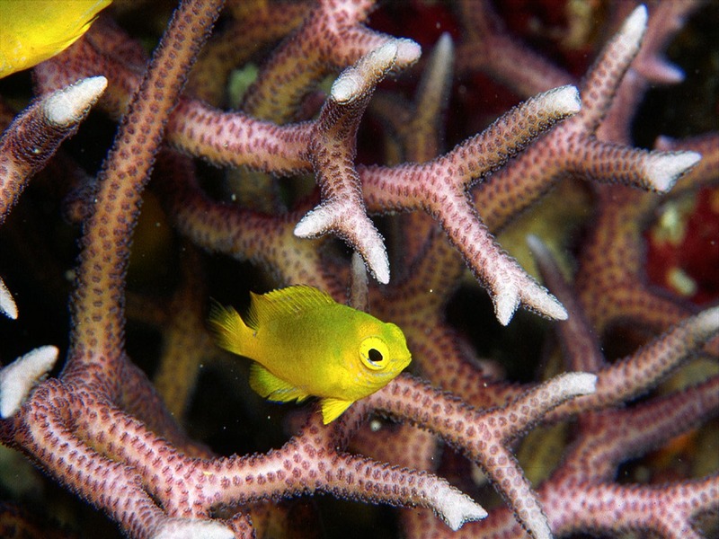
[[[489,288],[498,320],[509,323],[519,303],[553,318],[564,308],[504,254],[467,200],[466,190],[556,119],[579,110],[573,88],[537,96],[481,135],[429,163],[359,169],[370,209],[424,209],[442,225],[475,276]],[[494,140],[505,141],[501,145]]]

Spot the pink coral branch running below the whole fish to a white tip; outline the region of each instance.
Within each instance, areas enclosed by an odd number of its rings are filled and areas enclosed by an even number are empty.
[[[55,387],[50,386],[46,393]],[[108,405],[98,406],[92,394],[80,396],[85,408],[99,412],[75,418],[77,433],[87,437],[95,450],[110,456],[112,461],[119,460],[130,466],[120,466],[117,471],[103,469],[102,473],[116,476],[121,472],[117,481],[127,485],[125,490],[137,499],[132,507],[144,508],[142,513],[163,522],[167,517],[161,517],[154,504],[148,505],[149,498],[144,491],[162,501],[166,514],[188,519],[207,517],[210,508],[217,504],[234,505],[317,490],[374,503],[433,508],[453,529],[485,514],[471,499],[436,476],[339,453],[338,448],[346,444],[348,434],[343,428],[344,421],[325,428],[313,414],[310,424],[277,451],[267,455],[200,460],[178,454],[124,412]],[[54,400],[54,395],[44,395],[44,402]],[[54,429],[61,429],[62,425],[64,423]],[[356,425],[349,428],[355,429]],[[68,441],[67,445],[70,451],[76,443]],[[86,451],[77,451],[81,462],[93,461]],[[96,459],[97,456],[94,462]],[[89,473],[84,481],[95,481],[93,476],[94,473]],[[182,481],[178,481],[180,477]],[[120,497],[123,498],[125,496]],[[116,503],[114,497],[112,499]],[[118,520],[127,522],[127,517]],[[139,526],[138,530],[146,527]]]

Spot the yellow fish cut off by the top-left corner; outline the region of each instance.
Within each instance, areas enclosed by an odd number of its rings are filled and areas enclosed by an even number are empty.
[[[54,57],[111,0],[0,0],[0,78]]]

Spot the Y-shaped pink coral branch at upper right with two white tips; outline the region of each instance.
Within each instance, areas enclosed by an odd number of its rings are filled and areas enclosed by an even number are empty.
[[[622,77],[639,51],[646,18],[645,8],[636,8],[602,51],[581,88],[582,110],[540,137],[475,190],[475,204],[484,208],[484,221],[490,229],[501,229],[510,216],[527,208],[566,175],[666,191],[699,161],[700,155],[694,152],[652,153],[595,137]],[[517,189],[509,189],[510,185]]]

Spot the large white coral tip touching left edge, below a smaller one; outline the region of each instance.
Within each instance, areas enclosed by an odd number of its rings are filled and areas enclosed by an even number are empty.
[[[55,365],[58,353],[54,346],[42,346],[0,370],[0,417],[9,418],[20,410],[32,387]]]

